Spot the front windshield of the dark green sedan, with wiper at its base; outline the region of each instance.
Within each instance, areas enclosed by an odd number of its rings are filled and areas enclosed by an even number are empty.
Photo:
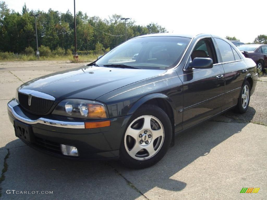
[[[186,37],[165,36],[130,39],[109,51],[96,61],[96,65],[170,69],[180,61],[190,40]]]

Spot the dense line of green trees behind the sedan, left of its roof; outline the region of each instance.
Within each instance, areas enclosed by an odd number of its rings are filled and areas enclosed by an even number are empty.
[[[74,19],[68,10],[66,13],[49,9],[34,11],[22,7],[22,13],[8,9],[5,2],[0,2],[0,51],[23,53],[26,47],[36,50],[35,19],[31,15],[38,14],[37,38],[40,45],[64,50],[72,49],[74,45]],[[125,24],[122,16],[114,14],[109,19],[88,17],[86,13],[77,12],[77,49],[83,51],[95,50],[96,46],[112,49],[125,41]],[[127,39],[144,34],[165,33],[166,29],[156,23],[147,26],[136,25],[135,21],[127,21]],[[115,36],[114,36],[115,35]],[[122,35],[122,36],[118,36]]]

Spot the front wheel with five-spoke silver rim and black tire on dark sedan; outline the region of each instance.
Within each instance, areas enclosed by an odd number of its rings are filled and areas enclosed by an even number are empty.
[[[120,161],[127,167],[142,169],[160,161],[172,138],[168,115],[154,105],[141,106],[129,120],[120,146]]]

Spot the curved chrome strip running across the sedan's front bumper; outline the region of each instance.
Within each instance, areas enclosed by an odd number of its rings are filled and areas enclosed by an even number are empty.
[[[71,128],[71,129],[84,129],[85,128],[84,122],[63,122],[63,121],[57,121],[57,120],[52,120],[52,119],[46,119],[42,117],[37,120],[26,119],[18,115],[9,103],[7,104],[7,109],[12,113],[15,119],[18,119],[19,121],[27,123],[27,124],[40,123],[40,124],[45,124],[49,126]]]

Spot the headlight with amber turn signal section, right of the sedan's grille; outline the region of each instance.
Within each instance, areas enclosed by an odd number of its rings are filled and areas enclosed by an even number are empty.
[[[65,99],[56,106],[52,114],[86,119],[108,118],[103,103],[84,99]]]

